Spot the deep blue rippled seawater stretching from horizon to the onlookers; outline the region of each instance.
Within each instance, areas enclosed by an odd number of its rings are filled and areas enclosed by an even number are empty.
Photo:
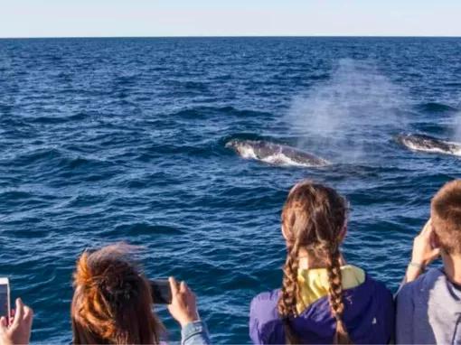
[[[0,40],[0,275],[33,306],[33,340],[71,340],[77,256],[128,241],[147,275],[192,286],[213,341],[249,342],[249,302],[280,285],[279,214],[304,178],[350,200],[345,255],[395,290],[461,161],[392,137],[459,138],[460,56],[456,38]],[[231,138],[334,164],[244,160]]]

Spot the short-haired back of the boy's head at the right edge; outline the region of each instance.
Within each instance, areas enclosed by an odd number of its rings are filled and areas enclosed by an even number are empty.
[[[447,182],[431,202],[431,222],[440,246],[461,254],[461,180]]]

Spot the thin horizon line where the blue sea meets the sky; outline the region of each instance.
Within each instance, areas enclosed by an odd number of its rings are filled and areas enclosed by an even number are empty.
[[[282,35],[139,35],[139,36],[11,36],[0,37],[0,40],[40,40],[40,39],[120,39],[120,38],[461,38],[456,35],[296,35],[296,34],[282,34]]]

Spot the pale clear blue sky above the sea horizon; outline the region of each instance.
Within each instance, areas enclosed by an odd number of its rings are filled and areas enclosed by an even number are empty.
[[[0,37],[461,36],[461,0],[0,0]]]

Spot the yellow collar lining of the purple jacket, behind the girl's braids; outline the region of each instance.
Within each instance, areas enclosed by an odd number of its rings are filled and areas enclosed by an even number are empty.
[[[365,281],[362,268],[346,265],[341,267],[343,289],[352,289]],[[328,294],[328,275],[325,268],[299,269],[297,283],[302,300],[296,304],[298,313],[303,312],[310,304]]]

